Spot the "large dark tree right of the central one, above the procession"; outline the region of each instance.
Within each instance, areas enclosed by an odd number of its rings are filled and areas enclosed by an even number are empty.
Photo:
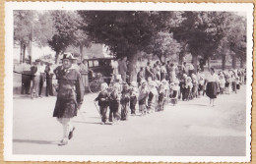
[[[183,21],[171,27],[170,32],[179,42],[184,42],[197,68],[198,56],[209,60],[217,53],[228,15],[224,12],[183,12],[181,16]]]

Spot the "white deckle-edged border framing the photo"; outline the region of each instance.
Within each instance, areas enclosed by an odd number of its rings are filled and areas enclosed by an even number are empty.
[[[227,11],[246,12],[246,156],[103,156],[103,155],[17,155],[13,147],[13,11],[14,10],[111,10],[111,11]],[[93,161],[93,162],[249,162],[251,161],[253,3],[103,3],[103,2],[5,2],[5,161]]]

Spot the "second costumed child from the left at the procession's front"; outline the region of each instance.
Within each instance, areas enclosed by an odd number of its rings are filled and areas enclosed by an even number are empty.
[[[109,95],[109,122],[115,124],[120,120],[121,116],[118,112],[120,106],[120,84],[115,82]],[[114,118],[114,119],[113,119]]]

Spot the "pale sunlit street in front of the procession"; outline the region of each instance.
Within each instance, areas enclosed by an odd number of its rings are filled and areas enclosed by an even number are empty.
[[[73,120],[74,137],[58,146],[62,126],[52,117],[56,97],[14,97],[14,154],[52,155],[245,155],[245,85],[237,94],[220,95],[217,106],[208,97],[167,105],[163,112],[130,116],[117,125],[100,125],[87,94]]]

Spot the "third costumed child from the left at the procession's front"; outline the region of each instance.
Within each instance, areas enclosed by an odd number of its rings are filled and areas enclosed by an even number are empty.
[[[127,83],[123,84],[121,94],[121,120],[128,120],[130,89]]]

